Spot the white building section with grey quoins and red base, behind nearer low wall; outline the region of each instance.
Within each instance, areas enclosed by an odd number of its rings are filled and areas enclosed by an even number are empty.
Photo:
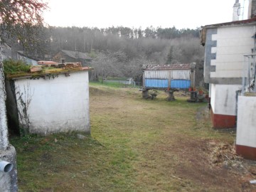
[[[209,83],[211,118],[215,128],[236,126],[242,89],[244,55],[255,53],[256,18],[203,26],[206,47],[204,78]]]

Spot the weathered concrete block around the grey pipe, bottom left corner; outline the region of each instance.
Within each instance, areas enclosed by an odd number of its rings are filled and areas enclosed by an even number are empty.
[[[18,191],[16,151],[14,146],[9,145],[6,150],[0,150],[0,161],[8,161],[9,163],[13,164],[13,169],[9,173],[0,171],[0,191]]]

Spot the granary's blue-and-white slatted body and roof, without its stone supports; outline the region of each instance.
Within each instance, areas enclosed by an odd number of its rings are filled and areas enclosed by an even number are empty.
[[[188,89],[194,87],[196,63],[144,65],[144,90]]]

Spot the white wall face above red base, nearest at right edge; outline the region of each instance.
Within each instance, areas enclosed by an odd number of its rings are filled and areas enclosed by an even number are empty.
[[[256,97],[238,97],[236,144],[256,147]]]

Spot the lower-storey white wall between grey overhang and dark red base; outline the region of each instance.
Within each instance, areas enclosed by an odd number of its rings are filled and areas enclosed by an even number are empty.
[[[236,91],[242,85],[211,84],[210,103],[214,114],[236,115]]]

